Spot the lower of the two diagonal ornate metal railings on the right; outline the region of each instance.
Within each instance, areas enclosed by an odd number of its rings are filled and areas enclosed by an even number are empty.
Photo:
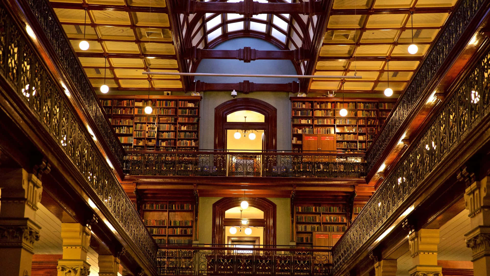
[[[333,248],[335,270],[361,248],[423,179],[450,152],[458,150],[457,146],[489,115],[490,53],[470,72]]]

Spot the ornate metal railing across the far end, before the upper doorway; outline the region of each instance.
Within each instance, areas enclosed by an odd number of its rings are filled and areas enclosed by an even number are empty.
[[[363,154],[127,152],[126,175],[363,178]]]

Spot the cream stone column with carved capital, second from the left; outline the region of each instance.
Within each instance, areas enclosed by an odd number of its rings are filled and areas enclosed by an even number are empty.
[[[58,261],[58,276],[87,276],[87,250],[90,246],[90,228],[80,223],[61,223],[63,259]]]

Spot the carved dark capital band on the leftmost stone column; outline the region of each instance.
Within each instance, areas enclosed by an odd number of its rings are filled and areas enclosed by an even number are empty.
[[[41,227],[25,219],[0,219],[0,248],[24,248],[34,254]]]

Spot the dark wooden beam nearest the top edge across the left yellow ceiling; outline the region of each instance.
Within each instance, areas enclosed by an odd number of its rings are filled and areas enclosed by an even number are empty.
[[[105,5],[105,4],[85,4],[85,3],[65,3],[65,2],[49,2],[53,8],[59,9],[85,9],[87,10],[105,10],[105,11],[123,11],[123,12],[150,12],[148,6],[132,6],[132,5]],[[168,13],[167,7],[151,7],[153,13]]]

